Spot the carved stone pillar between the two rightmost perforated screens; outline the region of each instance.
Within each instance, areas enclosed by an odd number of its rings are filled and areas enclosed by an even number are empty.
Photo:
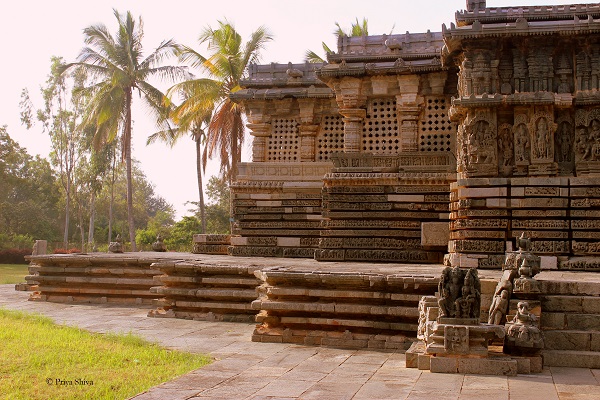
[[[419,150],[419,76],[398,76],[398,84],[402,94],[396,96],[398,110],[398,126],[400,127],[400,151]]]

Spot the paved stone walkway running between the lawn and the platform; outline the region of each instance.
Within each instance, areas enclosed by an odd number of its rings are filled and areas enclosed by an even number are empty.
[[[404,354],[253,343],[242,323],[154,319],[148,308],[27,301],[0,285],[0,307],[36,312],[94,332],[133,332],[215,362],[135,397],[161,399],[600,399],[600,370],[547,368],[516,377],[432,374]]]

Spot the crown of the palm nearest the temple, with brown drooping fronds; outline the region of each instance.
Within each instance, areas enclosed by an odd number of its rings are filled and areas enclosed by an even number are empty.
[[[219,27],[205,28],[200,34],[199,43],[208,45],[210,56],[202,56],[191,47],[181,47],[180,61],[199,68],[208,78],[198,78],[173,86],[167,92],[186,93],[183,103],[173,114],[174,120],[189,129],[202,116],[214,110],[208,129],[203,163],[218,154],[221,175],[230,181],[235,178],[237,164],[241,161],[241,146],[244,142],[244,121],[242,107],[229,98],[240,89],[240,80],[246,67],[260,60],[260,51],[272,40],[271,34],[263,26],[250,35],[244,44],[242,36],[228,21],[218,22]],[[198,117],[200,116],[200,117]]]

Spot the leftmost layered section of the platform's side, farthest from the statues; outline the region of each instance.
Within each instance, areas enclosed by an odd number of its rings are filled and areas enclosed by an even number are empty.
[[[151,304],[151,267],[157,257],[104,254],[31,256],[27,281],[38,282],[30,300],[86,303]]]

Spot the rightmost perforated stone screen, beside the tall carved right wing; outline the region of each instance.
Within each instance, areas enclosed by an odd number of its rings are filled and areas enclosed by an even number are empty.
[[[445,98],[427,98],[419,121],[419,151],[453,151],[456,125],[448,117]]]

